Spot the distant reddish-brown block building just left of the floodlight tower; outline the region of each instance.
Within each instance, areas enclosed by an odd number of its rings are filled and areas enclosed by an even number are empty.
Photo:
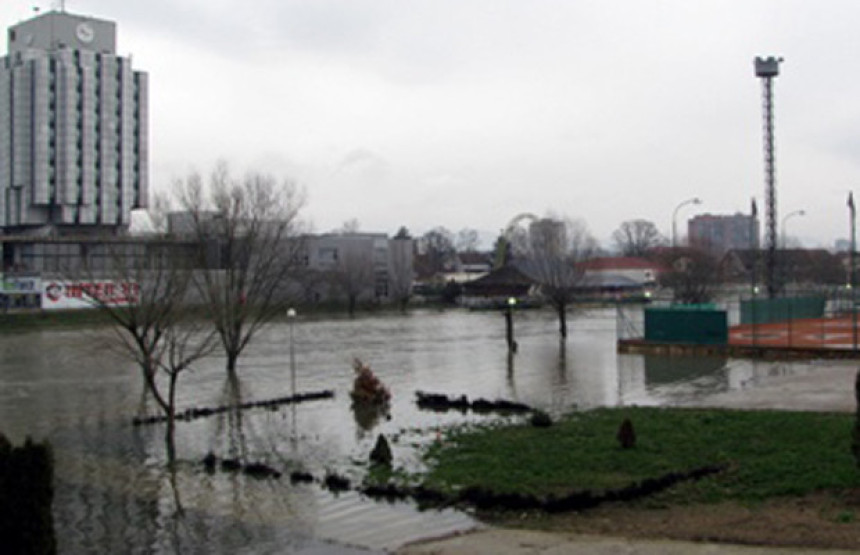
[[[687,240],[694,248],[724,253],[732,249],[759,246],[758,218],[746,214],[733,216],[700,214],[687,222]]]

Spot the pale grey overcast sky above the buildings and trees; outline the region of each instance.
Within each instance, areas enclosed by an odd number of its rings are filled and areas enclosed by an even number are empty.
[[[0,0],[8,27],[59,2]],[[289,177],[315,231],[496,234],[517,214],[764,214],[756,56],[775,81],[777,221],[849,235],[856,0],[69,0],[150,76],[151,186],[226,159]],[[3,52],[5,53],[5,46]],[[860,187],[858,187],[860,192]]]

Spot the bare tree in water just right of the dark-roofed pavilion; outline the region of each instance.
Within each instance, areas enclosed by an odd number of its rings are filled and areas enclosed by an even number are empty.
[[[579,263],[596,248],[597,242],[581,220],[544,218],[529,226],[527,273],[555,310],[562,339],[567,338],[567,308],[583,279]]]

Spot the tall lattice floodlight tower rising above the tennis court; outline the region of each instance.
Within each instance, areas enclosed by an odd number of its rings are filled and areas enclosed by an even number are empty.
[[[765,209],[767,223],[765,242],[767,244],[766,285],[769,298],[777,293],[776,286],[776,167],[773,154],[773,78],[779,75],[782,58],[756,57],[755,75],[761,79],[762,108],[764,109],[764,177]]]

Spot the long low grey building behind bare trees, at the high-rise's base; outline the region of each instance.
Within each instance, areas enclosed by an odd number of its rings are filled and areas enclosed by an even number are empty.
[[[213,214],[207,214],[206,222],[217,232],[219,220]],[[188,217],[172,213],[173,233],[167,237],[0,235],[0,311],[8,306],[44,308],[45,288],[53,282],[67,276],[98,276],[122,260],[129,267],[145,267],[165,249],[194,264],[203,248],[203,265],[217,271],[223,267],[217,233],[204,236],[201,243],[190,233]],[[390,304],[405,302],[412,292],[413,251],[409,237],[347,233],[288,237],[282,248],[268,254],[299,257],[285,286],[301,301],[354,297],[361,303]]]

